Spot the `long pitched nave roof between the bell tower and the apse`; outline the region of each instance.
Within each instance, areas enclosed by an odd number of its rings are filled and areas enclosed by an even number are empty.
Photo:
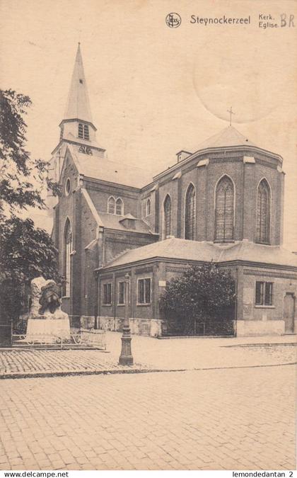
[[[88,178],[100,179],[109,183],[116,183],[119,186],[132,186],[133,188],[143,188],[153,181],[151,171],[141,169],[131,164],[110,161],[110,159],[97,156],[93,150],[93,155],[76,152],[72,144],[68,145],[71,156],[74,159],[78,173]]]

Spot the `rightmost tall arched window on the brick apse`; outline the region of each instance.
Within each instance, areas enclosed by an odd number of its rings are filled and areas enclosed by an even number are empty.
[[[266,179],[262,179],[257,191],[257,242],[269,243],[270,229],[270,189]]]

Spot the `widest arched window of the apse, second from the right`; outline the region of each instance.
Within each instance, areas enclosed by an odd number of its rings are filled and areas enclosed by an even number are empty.
[[[228,176],[216,185],[215,234],[216,241],[233,241],[234,186]]]

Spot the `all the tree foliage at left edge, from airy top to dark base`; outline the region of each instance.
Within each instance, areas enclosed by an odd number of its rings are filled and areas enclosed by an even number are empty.
[[[16,319],[25,305],[30,280],[59,278],[57,250],[43,229],[18,215],[28,207],[45,209],[45,187],[59,194],[47,178],[47,161],[32,159],[26,149],[24,117],[30,98],[0,90],[0,309],[3,319]]]

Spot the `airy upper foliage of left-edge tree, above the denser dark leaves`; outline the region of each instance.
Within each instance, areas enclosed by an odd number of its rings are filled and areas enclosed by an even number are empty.
[[[30,206],[44,209],[45,185],[59,194],[57,183],[47,178],[48,162],[32,159],[25,148],[30,105],[28,96],[0,90],[0,220]]]

